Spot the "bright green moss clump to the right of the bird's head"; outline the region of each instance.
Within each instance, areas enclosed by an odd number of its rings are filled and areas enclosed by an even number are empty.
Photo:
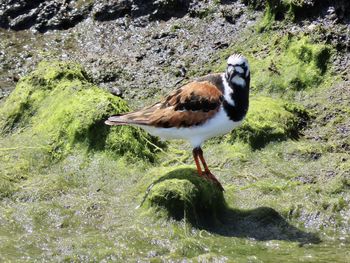
[[[250,60],[252,86],[264,92],[290,92],[316,88],[327,79],[324,75],[331,49],[312,44],[308,38],[276,39],[268,56]]]

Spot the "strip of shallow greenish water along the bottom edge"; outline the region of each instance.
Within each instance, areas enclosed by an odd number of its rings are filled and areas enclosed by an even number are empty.
[[[0,258],[2,261],[350,262],[349,240],[302,245],[284,240],[225,237],[193,229],[184,222],[155,223],[149,221],[152,219],[133,222],[132,217],[124,220],[117,218],[108,226],[99,226],[89,224],[86,219],[75,229],[61,225],[2,229]]]

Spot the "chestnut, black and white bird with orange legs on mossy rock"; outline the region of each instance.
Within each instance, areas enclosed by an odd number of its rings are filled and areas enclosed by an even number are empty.
[[[224,191],[209,170],[201,146],[207,139],[229,133],[242,123],[249,108],[249,87],[248,60],[234,53],[227,59],[225,72],[195,78],[159,102],[111,116],[105,124],[133,125],[161,139],[187,140],[193,147],[198,175]]]

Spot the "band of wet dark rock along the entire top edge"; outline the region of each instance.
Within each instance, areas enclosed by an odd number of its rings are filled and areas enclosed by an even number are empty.
[[[233,1],[221,1],[222,17],[229,23],[242,15],[242,8]],[[261,10],[268,7],[276,20],[289,14],[295,20],[326,17],[330,21],[349,23],[350,2],[347,0],[318,1],[303,0],[295,4],[281,0],[243,0],[244,4]],[[238,9],[237,9],[238,7]],[[23,30],[34,27],[38,31],[68,29],[85,18],[92,16],[98,21],[108,21],[129,16],[139,26],[146,26],[149,20],[169,20],[172,17],[205,18],[214,15],[218,5],[198,0],[3,0],[0,4],[0,27]],[[137,18],[143,19],[137,19]]]

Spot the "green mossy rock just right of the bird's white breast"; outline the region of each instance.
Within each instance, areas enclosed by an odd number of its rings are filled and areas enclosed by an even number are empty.
[[[241,140],[253,149],[264,147],[276,140],[298,137],[309,115],[298,105],[269,97],[251,100],[247,118],[233,130],[230,141]]]

